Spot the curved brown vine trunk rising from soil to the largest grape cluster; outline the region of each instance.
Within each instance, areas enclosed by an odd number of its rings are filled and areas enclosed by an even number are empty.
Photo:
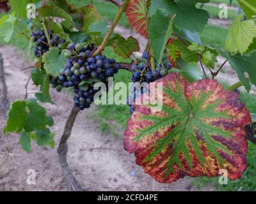
[[[63,131],[63,135],[61,136],[60,144],[57,150],[59,155],[60,166],[65,175],[65,179],[67,181],[67,187],[69,191],[83,191],[81,185],[77,182],[76,178],[72,174],[72,171],[70,170],[67,163],[67,153],[68,153],[67,141],[71,135],[71,131],[74,126],[74,122],[76,120],[78,113],[79,113],[79,108],[77,108],[77,106],[74,105],[70,114],[68,115],[68,119]]]

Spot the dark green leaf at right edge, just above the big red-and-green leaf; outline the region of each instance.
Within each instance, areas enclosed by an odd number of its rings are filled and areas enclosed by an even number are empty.
[[[222,57],[227,59],[231,68],[236,71],[237,76],[243,83],[246,91],[249,92],[251,90],[250,82],[256,85],[256,52],[253,51],[249,54],[244,54],[243,56],[241,54],[230,55],[221,50],[219,50],[219,53]],[[249,80],[246,78],[245,73],[247,73]]]

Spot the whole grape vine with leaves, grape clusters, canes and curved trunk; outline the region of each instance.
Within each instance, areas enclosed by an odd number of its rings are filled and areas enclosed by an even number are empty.
[[[205,45],[198,36],[209,20],[209,13],[198,3],[210,0],[125,0],[122,4],[111,0],[118,12],[110,26],[93,4],[32,2],[35,10],[27,8],[31,1],[23,0],[20,6],[15,0],[0,1],[0,10],[10,9],[0,18],[0,37],[8,42],[14,31],[26,36],[35,60],[26,68],[31,69],[28,83],[32,80],[38,87],[34,97],[28,97],[26,86],[24,99],[13,101],[3,132],[19,133],[20,145],[27,152],[31,152],[31,140],[54,148],[54,120],[42,103],[54,105],[50,87],[58,92],[72,90],[74,106],[58,147],[69,190],[83,189],[67,164],[67,140],[77,114],[92,106],[99,91],[108,92],[109,78],[115,78],[120,69],[132,75],[127,98],[131,118],[124,146],[135,154],[145,173],[159,182],[173,182],[185,175],[214,177],[221,168],[227,169],[229,179],[243,175],[247,138],[255,142],[255,122],[234,91],[244,86],[249,92],[256,85],[255,4],[238,1],[247,20],[241,16],[234,20],[223,50]],[[147,40],[145,48],[133,36],[125,38],[115,32],[124,14]],[[109,58],[106,47],[125,62]],[[135,57],[134,52],[141,50],[141,57]],[[220,66],[218,57],[225,58]],[[227,63],[239,82],[224,89],[214,78]],[[106,90],[94,89],[98,82]],[[164,88],[163,108],[157,112],[150,105],[136,104],[152,99],[148,96],[152,82]],[[143,83],[146,87],[141,88]]]

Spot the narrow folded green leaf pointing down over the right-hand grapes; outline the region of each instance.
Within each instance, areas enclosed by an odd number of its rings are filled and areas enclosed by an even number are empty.
[[[148,25],[148,36],[152,42],[152,48],[159,65],[163,59],[164,50],[169,38],[172,35],[173,19],[165,10],[157,10],[152,15]]]

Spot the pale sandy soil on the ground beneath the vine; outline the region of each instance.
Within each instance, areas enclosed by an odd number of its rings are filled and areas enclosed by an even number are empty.
[[[24,86],[29,71],[20,69],[30,65],[23,62],[23,56],[12,47],[1,47],[4,57],[6,83],[10,101],[23,99]],[[29,92],[36,88],[29,84]],[[3,94],[0,92],[0,95]],[[65,120],[73,101],[68,93],[51,92],[57,105],[46,105],[48,113],[54,117],[52,131],[56,133],[56,146],[60,140]],[[45,106],[45,105],[44,105]],[[89,110],[93,111],[93,108]],[[80,112],[68,141],[68,163],[77,180],[88,191],[193,191],[191,179],[180,179],[172,184],[159,184],[137,166],[134,156],[125,152],[122,136],[114,138],[102,135],[97,124],[87,116],[88,111]],[[6,123],[0,113],[0,131]],[[36,184],[28,185],[28,169],[36,171]],[[19,135],[0,133],[0,191],[66,191],[65,180],[58,163],[55,149],[38,147],[32,144],[32,152],[24,152],[19,144]],[[207,187],[204,190],[212,190]]]

